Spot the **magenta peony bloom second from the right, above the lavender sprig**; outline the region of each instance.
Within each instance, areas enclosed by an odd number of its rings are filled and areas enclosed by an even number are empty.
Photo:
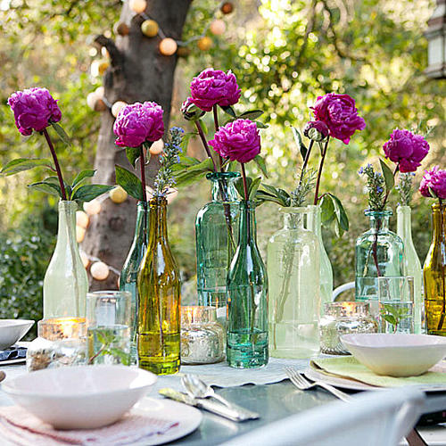
[[[429,152],[429,145],[421,135],[395,128],[383,145],[385,157],[400,163],[401,172],[415,172]]]

